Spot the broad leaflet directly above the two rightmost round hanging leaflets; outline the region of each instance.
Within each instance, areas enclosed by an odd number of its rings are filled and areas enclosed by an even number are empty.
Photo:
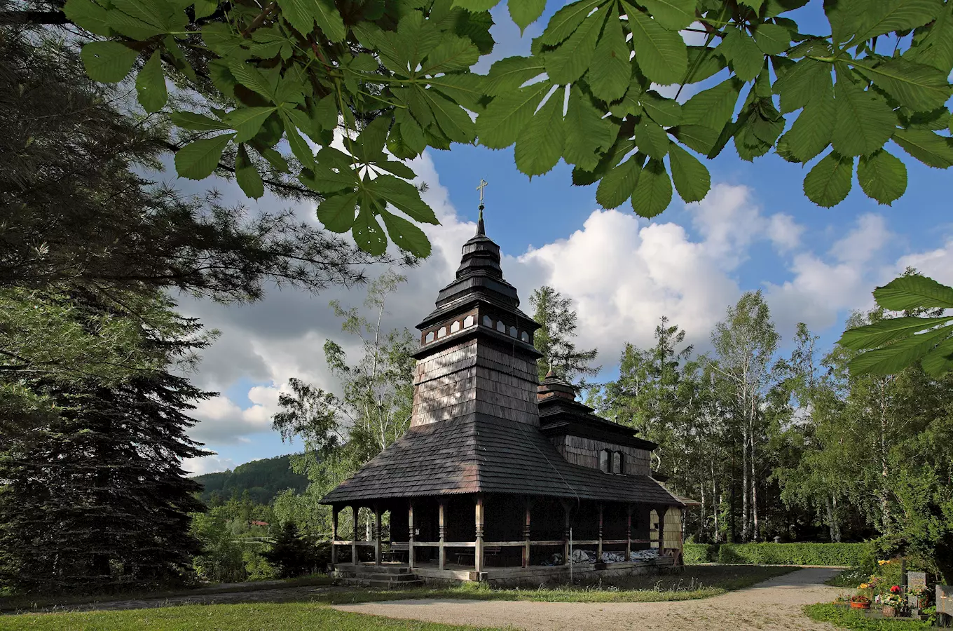
[[[897,114],[880,95],[864,91],[843,74],[834,87],[834,106],[831,144],[841,155],[874,153],[896,130]]]

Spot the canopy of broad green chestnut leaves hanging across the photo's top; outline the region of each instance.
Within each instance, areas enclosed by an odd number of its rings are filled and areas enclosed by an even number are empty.
[[[231,169],[252,197],[262,173],[296,177],[323,196],[325,227],[373,254],[388,237],[430,252],[417,224],[436,216],[397,160],[455,142],[515,145],[528,175],[563,159],[574,183],[599,182],[601,204],[628,199],[647,217],[668,206],[673,181],[685,201],[703,197],[698,156],[729,142],[745,160],[774,151],[811,164],[804,193],[821,206],[841,202],[855,171],[867,195],[899,198],[906,172],[890,140],[927,166],[953,164],[944,0],[825,2],[820,32],[796,21],[808,0],[577,0],[529,56],[477,74],[497,4],[69,0],[65,15],[91,39],[90,76],[134,71],[141,107],[182,133],[180,175]],[[546,3],[509,7],[525,29]],[[200,107],[168,104],[167,77]],[[677,86],[675,97],[659,86]],[[686,86],[691,97],[679,98]]]

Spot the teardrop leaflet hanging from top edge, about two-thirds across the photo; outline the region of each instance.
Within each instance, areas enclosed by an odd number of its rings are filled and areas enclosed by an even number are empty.
[[[636,49],[634,61],[639,70],[659,85],[679,83],[688,71],[688,52],[681,35],[663,29],[642,11],[624,4]]]

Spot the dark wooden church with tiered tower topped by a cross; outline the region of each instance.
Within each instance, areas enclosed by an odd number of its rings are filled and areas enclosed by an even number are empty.
[[[337,576],[538,584],[679,564],[685,502],[653,478],[657,445],[594,415],[569,383],[538,382],[538,325],[503,278],[482,208],[456,278],[417,325],[410,429],[321,500]],[[370,536],[338,539],[339,513],[356,523],[360,508],[374,513]]]

